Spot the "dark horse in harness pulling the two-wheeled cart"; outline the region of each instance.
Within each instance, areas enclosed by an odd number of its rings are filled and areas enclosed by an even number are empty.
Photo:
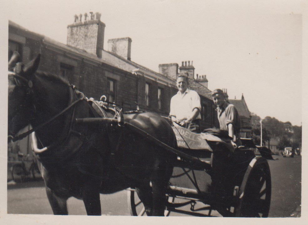
[[[9,61],[8,137],[15,141],[32,132],[53,213],[67,215],[67,199],[73,196],[83,200],[87,215],[101,215],[100,193],[135,187],[146,214],[163,216],[176,155],[119,124],[77,123],[97,116],[89,99],[64,78],[37,71],[39,61],[40,55],[23,65],[17,52]],[[115,117],[112,110],[102,113]],[[160,115],[132,113],[123,119],[177,148],[172,127]],[[16,136],[29,124],[30,131]]]

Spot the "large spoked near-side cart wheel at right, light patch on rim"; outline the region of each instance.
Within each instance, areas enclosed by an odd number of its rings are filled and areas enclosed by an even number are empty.
[[[235,217],[268,217],[271,177],[266,159],[253,158],[238,193]]]

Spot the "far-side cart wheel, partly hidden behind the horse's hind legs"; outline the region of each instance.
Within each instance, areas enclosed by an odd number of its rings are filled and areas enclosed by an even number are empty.
[[[171,202],[174,202],[174,198],[169,197],[166,195],[167,200],[171,200]],[[128,202],[128,208],[131,216],[146,216],[145,208],[139,199],[136,190],[134,189],[128,189],[127,190],[127,202]],[[170,210],[165,210],[165,216],[169,216]]]

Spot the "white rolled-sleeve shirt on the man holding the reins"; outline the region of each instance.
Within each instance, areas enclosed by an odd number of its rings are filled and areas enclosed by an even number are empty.
[[[187,88],[183,94],[178,91],[171,98],[169,115],[175,116],[177,120],[186,120],[195,108],[201,111],[200,96],[196,91]],[[196,119],[201,119],[200,112]]]

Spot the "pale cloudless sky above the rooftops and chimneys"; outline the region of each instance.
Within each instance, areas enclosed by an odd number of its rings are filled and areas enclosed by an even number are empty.
[[[4,18],[64,44],[75,14],[100,12],[105,50],[108,39],[130,37],[131,60],[154,71],[161,63],[193,61],[210,90],[226,88],[229,99],[244,94],[261,118],[301,125],[306,1],[0,2]]]

